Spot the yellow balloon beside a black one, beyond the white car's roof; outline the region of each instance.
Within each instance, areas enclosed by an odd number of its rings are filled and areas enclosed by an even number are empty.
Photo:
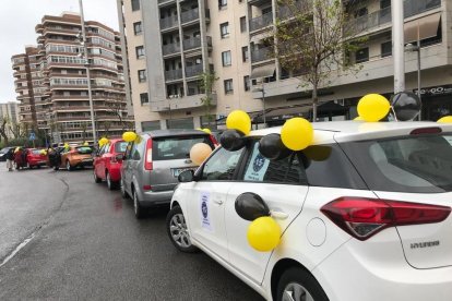
[[[391,108],[389,100],[380,94],[368,94],[358,103],[358,115],[365,121],[377,122],[383,119]]]

